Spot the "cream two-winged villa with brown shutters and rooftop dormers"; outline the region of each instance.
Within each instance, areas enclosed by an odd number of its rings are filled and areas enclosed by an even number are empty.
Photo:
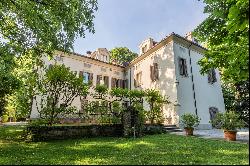
[[[53,60],[44,61],[48,66],[65,64],[93,86],[157,89],[171,101],[163,108],[165,125],[179,126],[180,116],[190,112],[201,118],[199,128],[210,129],[209,121],[216,112],[224,112],[225,105],[219,71],[211,69],[208,74],[200,74],[197,62],[206,48],[199,45],[191,33],[185,37],[171,33],[160,42],[149,38],[139,45],[139,49],[139,56],[124,65],[110,62],[106,48],[88,51],[86,55],[58,51]],[[149,107],[143,104],[146,109]],[[72,105],[81,111],[83,101],[76,98]],[[31,118],[38,115],[33,104]]]

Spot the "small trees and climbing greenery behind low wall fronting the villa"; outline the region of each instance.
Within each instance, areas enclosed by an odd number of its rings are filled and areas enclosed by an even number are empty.
[[[162,108],[170,102],[159,91],[109,90],[104,84],[85,83],[82,75],[77,76],[65,65],[55,64],[43,69],[45,72],[35,79],[32,101],[39,118],[29,120],[27,127],[27,135],[33,141],[93,136],[140,137],[164,132]],[[81,101],[80,110],[72,105],[75,99]],[[145,102],[149,104],[148,110],[143,107]],[[31,110],[26,112],[30,115]],[[7,113],[4,112],[2,122],[6,122]]]

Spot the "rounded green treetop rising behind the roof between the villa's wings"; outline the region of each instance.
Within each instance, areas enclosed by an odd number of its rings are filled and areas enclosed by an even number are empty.
[[[130,51],[127,47],[115,47],[110,51],[110,59],[123,64],[131,62],[138,54]]]

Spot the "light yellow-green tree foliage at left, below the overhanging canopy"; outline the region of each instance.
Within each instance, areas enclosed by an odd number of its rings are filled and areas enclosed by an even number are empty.
[[[16,66],[13,70],[15,77],[20,80],[20,86],[9,97],[9,105],[14,108],[17,118],[29,118],[32,110],[33,97],[37,92],[38,68],[43,68],[39,56],[34,51],[15,58]]]

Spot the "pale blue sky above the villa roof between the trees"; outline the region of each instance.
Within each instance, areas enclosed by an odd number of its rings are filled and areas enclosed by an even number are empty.
[[[74,52],[125,46],[138,53],[149,37],[160,41],[171,32],[184,36],[192,31],[207,17],[203,9],[198,0],[98,0],[95,33],[76,39]]]

